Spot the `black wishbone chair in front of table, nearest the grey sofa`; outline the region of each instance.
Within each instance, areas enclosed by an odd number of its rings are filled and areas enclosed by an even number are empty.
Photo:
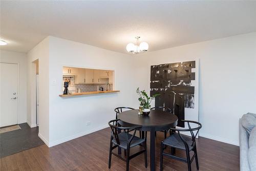
[[[163,156],[169,156],[170,158],[181,160],[187,163],[188,170],[191,171],[191,163],[193,162],[194,158],[196,159],[196,165],[197,169],[199,169],[199,164],[198,164],[198,157],[197,157],[197,147],[196,147],[196,136],[199,132],[199,130],[202,127],[202,124],[196,121],[191,121],[191,120],[181,120],[183,122],[187,122],[189,129],[174,129],[170,128],[172,131],[177,131],[178,133],[173,133],[170,135],[167,139],[163,140],[161,142],[161,158],[160,158],[160,170],[163,170]],[[195,123],[198,124],[198,127],[191,128],[190,123]],[[180,132],[190,132],[191,137],[181,135]],[[193,131],[197,131],[196,135],[194,134]],[[168,154],[164,152],[164,145],[172,147],[172,153]],[[173,149],[178,148],[178,149],[183,149],[186,151],[186,159],[174,156]],[[193,151],[194,155],[190,159],[189,152]]]

